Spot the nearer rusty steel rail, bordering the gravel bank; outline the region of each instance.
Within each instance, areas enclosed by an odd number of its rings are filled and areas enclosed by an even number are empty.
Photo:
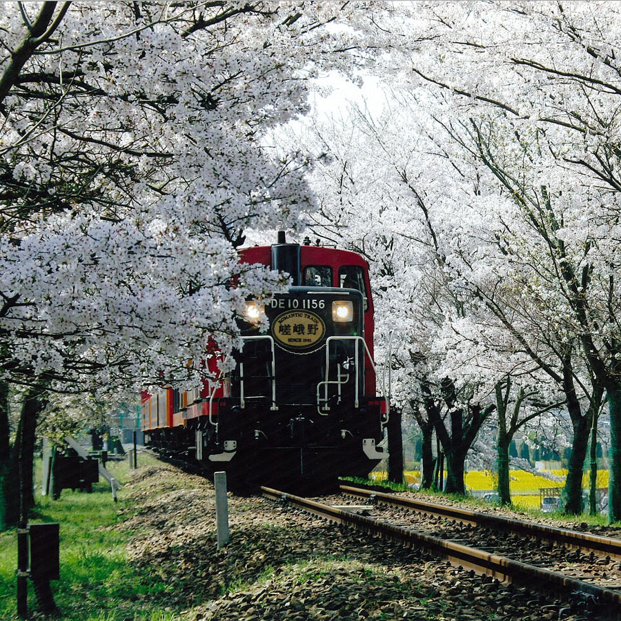
[[[268,487],[262,487],[265,497],[272,500],[279,500],[286,504],[297,506],[304,511],[325,517],[328,520],[339,524],[347,524],[355,526],[372,535],[380,535],[382,538],[397,541],[406,546],[426,549],[427,551],[438,555],[441,558],[451,561],[454,564],[467,566],[478,573],[491,575],[498,580],[508,580],[511,582],[520,582],[529,587],[536,585],[536,588],[549,588],[558,593],[569,596],[573,593],[584,593],[591,595],[597,602],[601,604],[613,604],[615,613],[613,618],[620,618],[621,611],[621,591],[613,591],[602,586],[596,586],[589,582],[576,580],[569,576],[541,569],[534,565],[522,563],[511,558],[491,554],[482,550],[477,550],[469,546],[457,544],[451,541],[443,540],[432,535],[419,533],[413,529],[406,529],[395,524],[387,524],[374,520],[371,517],[365,517],[344,509],[336,509],[335,507],[322,504],[314,500],[308,500],[300,496],[284,493]]]

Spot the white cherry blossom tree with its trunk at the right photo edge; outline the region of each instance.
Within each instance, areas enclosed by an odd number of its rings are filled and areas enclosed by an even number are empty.
[[[424,16],[423,16],[424,13]],[[446,94],[444,126],[513,201],[533,248],[541,308],[572,335],[611,415],[609,517],[621,518],[618,300],[618,66],[613,3],[437,3],[437,35],[408,60],[413,88]],[[411,68],[413,67],[413,70]],[[450,112],[449,112],[450,110]],[[575,371],[565,371],[575,380]],[[591,406],[597,410],[597,399]],[[582,435],[589,432],[584,428]]]

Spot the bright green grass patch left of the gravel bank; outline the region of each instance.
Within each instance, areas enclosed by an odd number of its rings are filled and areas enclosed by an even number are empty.
[[[141,455],[141,463],[149,457]],[[154,462],[155,463],[155,462]],[[121,483],[128,476],[126,462],[110,462],[108,469]],[[40,475],[37,473],[38,479]],[[52,582],[55,602],[67,621],[175,621],[179,616],[167,607],[170,586],[153,579],[148,569],[128,562],[126,544],[134,533],[116,529],[131,515],[131,507],[118,494],[112,501],[110,486],[93,486],[93,493],[63,490],[59,500],[43,497],[37,490],[37,507],[31,522],[59,522],[59,581]],[[123,509],[123,517],[119,511]],[[15,569],[17,532],[0,533],[0,618],[16,619]],[[29,584],[28,609],[37,610]]]

